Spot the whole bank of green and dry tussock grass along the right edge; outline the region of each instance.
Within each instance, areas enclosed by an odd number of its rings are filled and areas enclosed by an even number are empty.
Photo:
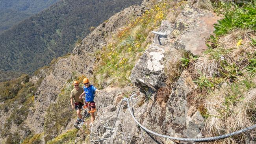
[[[223,135],[256,124],[256,1],[238,7],[221,4],[215,11],[224,15],[215,24],[215,35],[206,41],[208,50],[189,65],[197,83],[196,107],[206,119],[208,136]],[[219,8],[219,9],[218,9]],[[211,142],[244,144],[256,131]]]

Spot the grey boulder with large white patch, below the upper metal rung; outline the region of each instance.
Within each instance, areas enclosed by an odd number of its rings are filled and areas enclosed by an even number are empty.
[[[164,79],[164,57],[168,48],[152,44],[141,56],[132,69],[130,80],[137,87],[145,90],[159,89],[165,85]]]

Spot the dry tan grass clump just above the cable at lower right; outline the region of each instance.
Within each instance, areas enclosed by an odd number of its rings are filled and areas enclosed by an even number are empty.
[[[206,98],[208,110],[206,129],[212,135],[223,135],[253,126],[256,123],[256,88],[246,90],[239,87],[241,94],[230,87],[212,92]],[[235,96],[235,97],[234,97]],[[225,144],[243,144],[246,138],[252,139],[256,131],[221,140]]]

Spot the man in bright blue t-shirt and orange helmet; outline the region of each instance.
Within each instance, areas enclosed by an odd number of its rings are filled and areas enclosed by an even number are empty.
[[[83,96],[85,95],[85,107],[88,107],[89,112],[91,114],[91,124],[89,126],[91,126],[93,124],[93,121],[95,120],[95,114],[94,112],[96,111],[96,106],[95,106],[95,102],[94,102],[94,96],[95,96],[95,92],[100,91],[98,89],[96,89],[96,87],[94,87],[93,85],[90,85],[89,83],[89,79],[84,78],[83,79],[83,93],[80,95],[80,99],[83,98]]]

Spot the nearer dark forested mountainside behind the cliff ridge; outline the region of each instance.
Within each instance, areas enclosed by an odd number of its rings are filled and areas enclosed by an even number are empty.
[[[0,71],[32,74],[53,58],[71,52],[91,26],[96,27],[125,7],[141,1],[60,0],[0,34]]]

